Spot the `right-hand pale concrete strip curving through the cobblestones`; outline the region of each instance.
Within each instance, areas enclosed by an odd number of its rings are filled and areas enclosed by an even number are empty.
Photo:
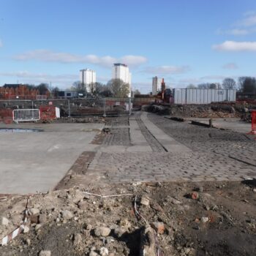
[[[154,138],[156,138],[159,143],[162,144],[166,148],[168,152],[191,152],[191,149],[187,146],[184,146],[181,143],[178,143],[178,141],[171,138],[169,135],[167,135],[165,132],[162,131],[162,129],[159,129],[155,124],[153,124],[148,119],[148,113],[143,112],[140,116],[143,123],[146,125],[149,132],[151,132],[152,135],[154,135]]]

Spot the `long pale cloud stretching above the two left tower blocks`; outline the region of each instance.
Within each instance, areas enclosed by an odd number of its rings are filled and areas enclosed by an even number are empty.
[[[46,61],[46,62],[61,62],[61,63],[88,63],[97,64],[103,67],[111,67],[113,63],[121,62],[128,66],[138,66],[147,61],[143,56],[122,56],[121,58],[114,58],[112,56],[96,56],[96,55],[75,55],[72,53],[59,53],[52,50],[31,50],[26,53],[21,53],[14,57],[19,61]]]

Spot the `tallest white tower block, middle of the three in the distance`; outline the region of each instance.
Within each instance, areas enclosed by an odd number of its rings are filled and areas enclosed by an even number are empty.
[[[132,74],[129,72],[129,67],[125,64],[116,63],[112,69],[112,79],[121,79],[124,83],[129,84],[129,97],[131,97]]]

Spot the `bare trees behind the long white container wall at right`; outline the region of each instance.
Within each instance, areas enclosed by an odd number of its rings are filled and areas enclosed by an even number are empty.
[[[225,78],[222,83],[200,83],[197,86],[189,84],[187,89],[237,89],[245,94],[256,94],[256,78],[240,77],[237,81]]]

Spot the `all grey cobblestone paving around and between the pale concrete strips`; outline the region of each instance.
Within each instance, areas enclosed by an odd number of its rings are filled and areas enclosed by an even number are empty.
[[[157,127],[192,149],[191,152],[166,152],[162,150],[161,144],[159,149],[158,140],[151,135],[139,115],[135,117],[141,133],[154,152],[98,151],[89,165],[88,174],[97,173],[101,181],[108,183],[236,181],[256,177],[255,142],[246,136],[231,131],[195,127],[149,114],[149,120]],[[129,129],[112,131],[116,133],[113,132],[113,137],[105,145],[125,146],[124,143],[129,141]]]

